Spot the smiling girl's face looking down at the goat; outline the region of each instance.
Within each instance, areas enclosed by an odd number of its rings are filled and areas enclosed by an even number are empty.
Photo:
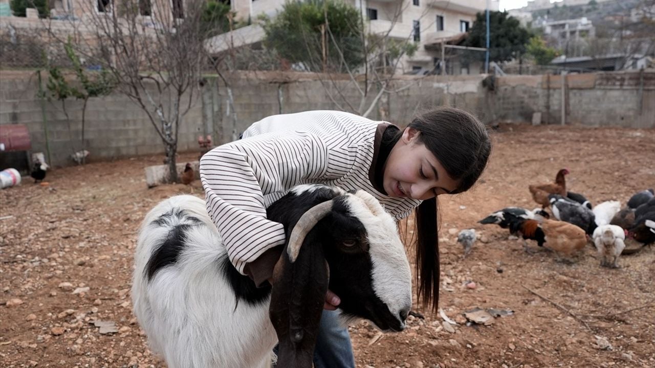
[[[457,190],[441,162],[423,143],[419,131],[407,128],[392,148],[384,165],[383,186],[391,197],[426,200]]]

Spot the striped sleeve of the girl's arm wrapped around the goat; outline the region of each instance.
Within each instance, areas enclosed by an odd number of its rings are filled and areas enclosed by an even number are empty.
[[[261,134],[216,147],[200,160],[208,213],[234,267],[284,244],[284,228],[266,218],[264,196],[327,179],[327,147],[310,133]]]

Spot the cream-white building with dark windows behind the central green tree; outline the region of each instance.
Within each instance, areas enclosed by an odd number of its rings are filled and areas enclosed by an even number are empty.
[[[371,33],[388,33],[388,37],[409,40],[419,44],[417,52],[405,56],[400,72],[434,69],[440,60],[440,52],[434,44],[451,39],[468,31],[477,12],[498,10],[498,1],[488,0],[344,0],[360,9],[369,20],[367,28]],[[259,14],[274,16],[284,5],[284,0],[232,0],[232,9],[237,18],[255,22]],[[221,52],[231,46],[252,45],[261,41],[264,31],[258,24],[252,24],[235,31],[214,37],[208,42],[212,52]],[[428,46],[426,48],[426,45]],[[432,46],[432,47],[430,47]],[[464,68],[454,73],[476,73]]]

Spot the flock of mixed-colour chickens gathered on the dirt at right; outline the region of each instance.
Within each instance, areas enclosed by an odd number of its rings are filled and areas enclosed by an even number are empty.
[[[557,172],[555,183],[529,185],[534,202],[541,208],[531,211],[508,207],[478,222],[496,224],[509,229],[512,235],[523,237],[526,251],[530,251],[526,240],[536,240],[538,246],[555,251],[559,259],[570,260],[579,255],[591,240],[603,267],[619,267],[618,258],[626,248],[626,238],[642,244],[655,243],[653,189],[635,193],[625,208],[621,208],[617,200],[592,207],[582,194],[567,191],[567,174],[569,170],[562,169]],[[550,208],[550,213],[546,208]],[[468,254],[475,240],[475,230],[459,232],[457,241],[464,246],[464,255]]]

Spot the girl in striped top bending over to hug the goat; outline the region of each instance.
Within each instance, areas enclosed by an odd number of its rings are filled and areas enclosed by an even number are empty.
[[[441,107],[401,130],[341,111],[274,115],[200,160],[207,210],[234,267],[258,286],[272,276],[285,241],[266,208],[293,186],[325,183],[365,190],[400,220],[416,209],[418,294],[436,310],[439,298],[437,196],[462,193],[482,174],[491,140],[460,109]],[[350,337],[338,323],[339,297],[326,295],[314,365],[354,367]]]

